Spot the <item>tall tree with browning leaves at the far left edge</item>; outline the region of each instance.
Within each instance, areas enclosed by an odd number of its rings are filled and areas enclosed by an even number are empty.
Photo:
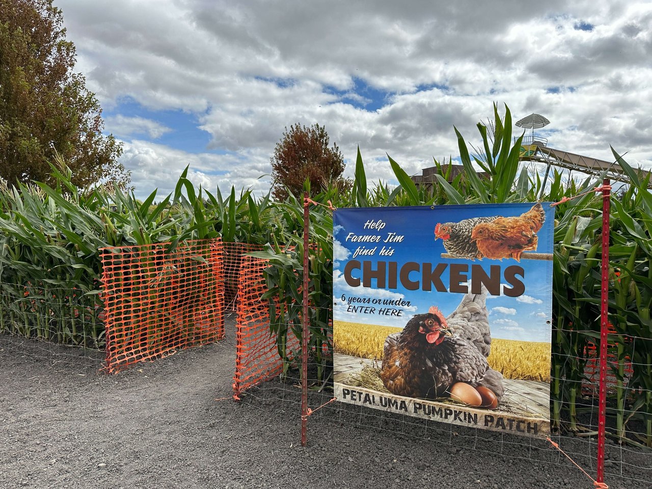
[[[62,25],[52,0],[0,0],[0,176],[52,183],[48,162],[58,154],[78,186],[126,185],[121,143],[102,134],[102,109],[72,71],[75,47]]]

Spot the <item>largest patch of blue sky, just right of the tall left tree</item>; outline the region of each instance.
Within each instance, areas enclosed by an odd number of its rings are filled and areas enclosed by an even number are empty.
[[[166,145],[174,149],[186,151],[186,153],[211,153],[214,155],[226,155],[230,153],[223,149],[207,149],[211,141],[211,135],[205,130],[199,128],[198,115],[184,112],[182,110],[149,110],[139,104],[131,97],[121,98],[117,105],[110,109],[104,110],[102,117],[143,117],[156,121],[162,126],[170,128],[158,138],[151,138],[147,132],[130,134],[128,140],[141,139],[152,141],[157,144]],[[110,128],[107,128],[110,130]],[[119,135],[126,136],[126,135]]]

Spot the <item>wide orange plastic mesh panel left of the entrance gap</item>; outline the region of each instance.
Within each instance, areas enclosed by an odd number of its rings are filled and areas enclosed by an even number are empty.
[[[100,250],[109,372],[224,336],[221,241],[169,244]]]

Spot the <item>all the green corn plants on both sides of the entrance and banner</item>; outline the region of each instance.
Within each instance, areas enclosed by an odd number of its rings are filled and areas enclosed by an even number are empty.
[[[538,176],[519,168],[520,140],[511,145],[509,110],[501,118],[494,106],[490,126],[478,125],[483,155],[469,155],[458,133],[466,171],[450,183],[451,167],[445,162],[435,161],[438,185],[426,188],[415,186],[400,164],[389,158],[399,185],[368,186],[358,151],[350,190],[321,182],[308,182],[306,188],[319,190],[313,192],[315,201],[331,201],[336,207],[561,201],[587,192],[556,208],[553,262],[552,422],[580,432],[585,429],[579,422],[582,406],[590,402],[582,400],[585,347],[597,344],[600,329],[602,198],[591,190],[602,179],[566,182],[559,171],[553,171],[550,187],[542,188]],[[617,385],[608,414],[614,437],[652,446],[652,194],[647,192],[647,179],[641,179],[621,156],[614,156],[632,185],[611,200],[609,318],[615,330],[610,342],[617,345],[612,366]],[[477,166],[488,173],[488,179],[475,175]],[[308,344],[319,376],[327,380],[333,293],[330,211],[322,205],[310,206],[311,246],[305,250],[303,198],[299,197],[303,181],[284,201],[274,202],[269,194],[255,198],[249,191],[237,194],[235,188],[225,196],[219,190],[212,194],[195,189],[187,170],[175,192],[156,205],[156,192],[139,202],[111,186],[83,190],[61,161],[50,170],[52,185],[0,188],[0,332],[101,348],[98,248],[168,241],[175,246],[185,239],[220,236],[223,241],[266,245],[256,256],[269,259],[265,297],[273,318],[271,333],[286,369],[298,361],[297,352],[286,346],[289,334],[301,339],[303,256],[308,254]],[[626,372],[629,363],[631,374]]]

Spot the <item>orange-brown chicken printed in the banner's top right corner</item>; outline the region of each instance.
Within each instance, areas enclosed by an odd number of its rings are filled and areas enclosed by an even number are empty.
[[[537,249],[537,231],[541,230],[545,220],[543,207],[537,203],[520,216],[497,217],[492,222],[477,224],[471,233],[471,241],[475,241],[479,254],[484,258],[520,261],[524,251]]]

